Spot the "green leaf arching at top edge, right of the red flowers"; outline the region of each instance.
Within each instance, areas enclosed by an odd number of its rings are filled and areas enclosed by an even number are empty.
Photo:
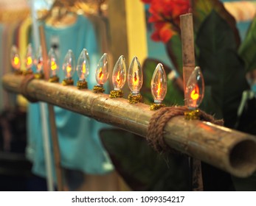
[[[235,35],[235,44],[238,47],[241,43],[238,29],[236,27],[235,18],[225,9],[224,4],[219,0],[193,0],[192,1],[193,9],[193,22],[195,32],[198,33],[201,24],[204,22],[205,18],[215,10],[221,18],[224,18],[229,24],[232,32]]]

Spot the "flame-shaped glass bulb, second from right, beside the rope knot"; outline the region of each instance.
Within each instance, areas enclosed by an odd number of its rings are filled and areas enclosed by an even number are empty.
[[[167,77],[161,63],[156,65],[151,79],[151,93],[155,103],[162,103],[167,93]]]

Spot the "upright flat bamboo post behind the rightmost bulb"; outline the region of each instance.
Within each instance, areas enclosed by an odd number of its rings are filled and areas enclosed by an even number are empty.
[[[193,14],[187,13],[180,16],[181,20],[181,45],[182,45],[182,62],[183,62],[183,86],[184,96],[187,86],[187,81],[193,72],[195,63],[194,49],[194,31],[193,31]],[[187,100],[184,99],[184,104],[187,105]],[[190,167],[190,182],[191,190],[203,191],[203,180],[201,174],[201,161],[189,157]]]

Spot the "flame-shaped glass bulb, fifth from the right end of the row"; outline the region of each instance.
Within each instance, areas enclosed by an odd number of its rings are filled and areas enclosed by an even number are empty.
[[[98,85],[104,85],[108,80],[108,54],[104,53],[97,64],[95,77]]]

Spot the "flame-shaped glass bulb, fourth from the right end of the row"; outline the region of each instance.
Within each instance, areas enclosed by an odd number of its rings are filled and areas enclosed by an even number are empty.
[[[125,85],[126,81],[126,66],[125,66],[125,57],[120,56],[117,60],[117,63],[114,65],[114,70],[112,74],[112,82],[114,90],[121,90]]]

